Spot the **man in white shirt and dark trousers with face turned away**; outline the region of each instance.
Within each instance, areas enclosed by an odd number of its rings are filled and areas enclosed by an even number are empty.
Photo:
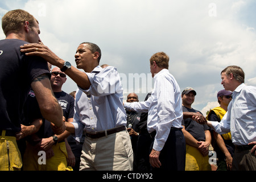
[[[183,119],[181,93],[174,76],[168,71],[169,57],[164,52],[150,59],[154,90],[144,102],[125,103],[127,109],[147,112],[147,129],[154,138],[150,154],[153,169],[185,169],[185,139],[181,131]]]

